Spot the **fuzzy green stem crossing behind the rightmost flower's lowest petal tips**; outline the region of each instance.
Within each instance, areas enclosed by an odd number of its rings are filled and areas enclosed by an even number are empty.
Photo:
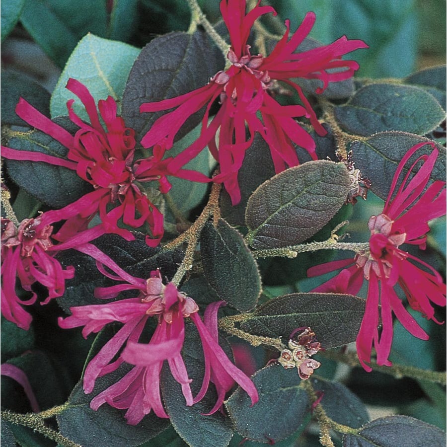
[[[337,351],[325,351],[321,352],[321,355],[328,359],[344,363],[351,367],[361,366],[355,352],[341,353]],[[396,378],[411,377],[416,380],[425,380],[429,382],[440,383],[441,385],[446,385],[445,372],[422,370],[411,366],[397,364],[394,364],[390,367],[374,365],[373,368],[374,371],[389,374]]]

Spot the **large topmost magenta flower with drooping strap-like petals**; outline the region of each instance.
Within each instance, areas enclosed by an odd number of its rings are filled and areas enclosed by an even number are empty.
[[[312,158],[316,159],[313,139],[295,118],[310,119],[319,135],[324,135],[326,131],[293,79],[320,79],[322,86],[316,93],[321,93],[328,82],[348,79],[359,68],[354,61],[342,61],[344,54],[368,47],[361,40],[348,40],[343,36],[330,45],[295,53],[315,22],[315,14],[308,12],[289,41],[290,23],[286,20],[286,33],[271,54],[267,57],[252,55],[250,46],[247,45],[252,25],[261,15],[276,12],[271,6],[259,6],[258,2],[245,14],[245,6],[245,0],[221,1],[222,17],[231,41],[227,54],[231,66],[227,70],[215,74],[208,85],[190,93],[145,103],[140,107],[141,112],[157,112],[175,107],[173,111],[158,118],[142,139],[145,148],[160,146],[170,149],[175,135],[186,119],[207,105],[200,137],[174,158],[169,169],[176,172],[208,146],[221,170],[221,174],[213,180],[224,183],[233,204],[240,201],[237,172],[242,165],[245,150],[250,147],[256,132],[259,132],[270,146],[277,173],[287,166],[299,164],[294,144],[306,149]],[[280,88],[278,81],[297,91],[303,105],[281,106],[273,97],[275,90]],[[221,108],[208,124],[210,108],[217,98]],[[248,139],[246,125],[250,133]],[[219,129],[217,145],[216,133]]]

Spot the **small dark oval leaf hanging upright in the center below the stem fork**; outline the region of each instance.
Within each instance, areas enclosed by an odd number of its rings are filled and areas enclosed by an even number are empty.
[[[200,236],[205,277],[220,299],[238,310],[250,310],[261,294],[258,266],[242,235],[219,220],[208,222]]]

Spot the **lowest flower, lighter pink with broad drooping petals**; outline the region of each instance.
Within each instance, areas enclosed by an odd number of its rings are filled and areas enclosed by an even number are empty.
[[[145,281],[125,274],[110,261],[107,266],[127,283],[97,289],[97,298],[113,298],[121,291],[131,289],[139,290],[139,296],[108,304],[72,307],[72,315],[59,320],[59,325],[63,328],[84,326],[84,337],[91,332],[98,332],[107,323],[124,323],[85,369],[84,391],[90,393],[97,377],[115,371],[123,362],[135,366],[118,382],[94,397],[90,403],[92,409],[97,410],[105,402],[115,408],[127,409],[125,417],[133,425],[138,424],[151,410],[158,417],[168,418],[160,396],[160,373],[165,360],[173,377],[181,384],[183,396],[189,406],[203,398],[210,380],[215,383],[218,391],[218,401],[210,414],[221,407],[225,393],[235,382],[247,391],[253,403],[258,400],[254,384],[230,362],[218,344],[217,311],[221,303],[211,304],[207,308],[203,323],[197,314],[199,308],[195,301],[178,292],[173,283],[165,286],[159,271],[151,272],[150,278]],[[149,316],[157,316],[158,325],[149,344],[138,343]],[[191,379],[181,356],[185,338],[184,319],[187,317],[197,327],[205,354],[205,377],[196,398],[193,398],[189,385]],[[125,344],[118,359],[112,361]]]

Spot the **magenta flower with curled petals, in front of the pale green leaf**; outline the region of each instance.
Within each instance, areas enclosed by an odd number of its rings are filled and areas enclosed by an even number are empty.
[[[114,232],[127,239],[132,238],[128,230],[118,227],[118,220],[122,218],[124,224],[132,227],[140,227],[145,222],[149,224],[152,238],[148,236],[146,242],[149,246],[156,246],[163,235],[163,215],[140,190],[137,182],[158,180],[161,192],[169,190],[165,167],[168,161],[162,161],[164,151],[154,151],[153,156],[134,161],[135,131],[127,128],[124,120],[117,116],[115,100],[109,96],[107,100],[98,102],[100,116],[106,126],[104,130],[95,101],[87,88],[75,79],[69,79],[67,88],[79,97],[90,118],[90,123],[84,123],[73,111],[74,99],[67,102],[70,119],[79,126],[74,136],[22,98],[17,104],[16,113],[28,124],[69,149],[68,160],[41,152],[3,147],[2,156],[15,160],[43,161],[73,169],[94,187],[94,191],[76,202],[60,210],[47,212],[42,225],[67,220],[66,225],[73,231],[77,229],[74,226],[77,227],[82,221],[88,222],[99,211],[102,232],[96,231],[96,237]],[[188,178],[187,174],[182,174]],[[115,208],[108,211],[110,204],[115,205]]]

